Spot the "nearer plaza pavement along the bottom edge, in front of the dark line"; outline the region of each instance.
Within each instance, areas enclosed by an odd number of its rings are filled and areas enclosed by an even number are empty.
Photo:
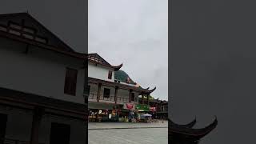
[[[89,144],[168,144],[168,128],[88,130]]]

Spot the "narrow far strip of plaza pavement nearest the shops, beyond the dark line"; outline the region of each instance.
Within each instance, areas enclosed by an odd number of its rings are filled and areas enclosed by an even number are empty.
[[[168,121],[157,123],[146,122],[88,122],[88,130],[111,129],[143,129],[143,128],[168,128]]]

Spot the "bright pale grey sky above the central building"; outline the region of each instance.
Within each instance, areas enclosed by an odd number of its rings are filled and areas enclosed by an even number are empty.
[[[89,0],[89,53],[168,99],[168,0]]]

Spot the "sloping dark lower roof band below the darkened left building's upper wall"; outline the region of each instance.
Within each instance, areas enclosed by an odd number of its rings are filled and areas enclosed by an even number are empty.
[[[67,102],[55,98],[48,98],[37,94],[28,94],[18,90],[0,88],[0,99],[20,102],[32,106],[44,106],[56,110],[73,111],[77,114],[86,114],[86,105],[74,102]]]

